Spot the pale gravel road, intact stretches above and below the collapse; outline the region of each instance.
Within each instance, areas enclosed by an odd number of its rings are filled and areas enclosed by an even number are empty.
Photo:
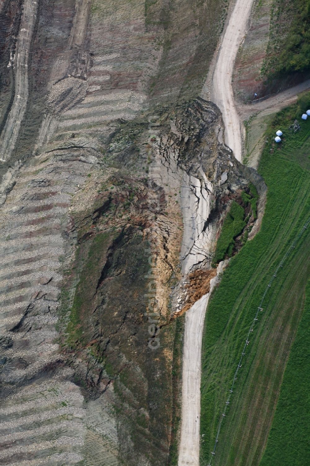
[[[237,50],[246,32],[253,0],[237,0],[222,39],[213,75],[211,100],[222,111],[225,142],[241,161],[242,137],[232,89],[232,72]],[[205,212],[207,217],[207,212]],[[184,231],[183,242],[186,243]],[[208,249],[209,245],[205,245]],[[193,258],[192,258],[193,260]],[[199,262],[197,255],[196,263]],[[198,466],[200,445],[201,346],[204,315],[209,294],[203,296],[186,315],[182,368],[182,425],[178,465]]]

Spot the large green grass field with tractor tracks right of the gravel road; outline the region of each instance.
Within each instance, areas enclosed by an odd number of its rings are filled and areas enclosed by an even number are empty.
[[[268,142],[259,165],[259,172],[268,186],[261,230],[230,261],[209,302],[202,345],[201,466],[209,464],[220,416],[263,292],[309,216],[310,121],[302,121],[301,131],[296,134],[287,130],[295,117],[300,122],[300,112],[310,104],[309,97],[304,96],[299,105],[278,113],[266,131]],[[278,146],[274,143],[277,129],[283,130],[283,143]],[[308,228],[266,295],[263,313],[251,334],[222,423],[212,465],[260,464],[299,322],[298,332],[308,338],[307,346],[310,346],[309,333],[303,332],[305,317],[300,320],[309,276],[309,247]],[[310,363],[305,374],[309,368]],[[284,382],[288,378],[290,375],[285,374]],[[285,384],[283,391],[284,387]],[[285,390],[283,396],[291,399],[292,411],[296,399],[294,384],[286,382]],[[302,390],[300,396],[306,402],[307,391]],[[296,462],[296,458],[301,457],[302,449],[305,450],[305,435],[310,436],[309,410],[299,418],[298,425],[294,424],[294,419],[289,421],[279,404],[262,466],[307,464],[304,458],[301,462]],[[290,455],[285,456],[281,454],[280,446],[285,444],[284,432],[293,425],[296,442],[290,445]],[[274,448],[276,443],[279,444],[277,450]],[[295,455],[294,461],[292,455]]]

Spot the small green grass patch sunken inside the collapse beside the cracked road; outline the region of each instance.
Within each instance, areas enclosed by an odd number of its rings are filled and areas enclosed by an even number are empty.
[[[238,236],[245,227],[244,209],[233,201],[226,219],[223,221],[222,231],[216,244],[214,262],[218,264],[226,255],[231,256],[235,245],[234,238]]]

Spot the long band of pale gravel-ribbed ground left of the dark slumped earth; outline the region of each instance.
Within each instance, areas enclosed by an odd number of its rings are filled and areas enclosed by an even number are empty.
[[[130,419],[116,425],[115,394],[107,375],[103,374],[105,391],[100,401],[89,401],[85,409],[80,388],[71,380],[92,377],[99,384],[100,371],[77,356],[69,361],[72,369],[65,369],[68,360],[60,351],[56,331],[61,264],[74,253],[75,233],[68,223],[72,195],[76,197],[94,171],[98,137],[106,138],[115,129],[111,121],[133,119],[146,100],[140,90],[141,73],[130,75],[131,67],[140,68],[139,60],[143,64],[148,56],[144,52],[141,58],[138,52],[142,3],[138,20],[132,18],[137,21],[137,32],[131,23],[117,24],[117,7],[113,7],[114,25],[110,17],[105,24],[97,18],[87,32],[89,7],[88,1],[76,3],[68,41],[71,51],[67,48],[55,54],[50,79],[64,79],[52,85],[47,96],[45,117],[32,148],[39,155],[21,168],[18,162],[2,180],[0,378],[5,408],[0,464],[71,465],[87,458],[89,465],[118,465],[118,438],[130,433],[126,427]],[[127,31],[124,42],[115,53],[115,40],[122,30]],[[90,36],[97,37],[91,55]],[[42,65],[47,68],[47,62]],[[117,82],[120,67],[123,78]],[[106,86],[108,81],[112,86]],[[23,97],[25,107],[27,98]],[[14,123],[21,124],[21,120],[12,117]],[[94,124],[104,122],[109,126],[94,129]],[[18,130],[14,129],[15,136]],[[55,137],[60,140],[57,144]],[[82,212],[88,201],[84,198],[74,211]],[[133,444],[123,444],[123,454],[135,461],[130,452]],[[146,462],[143,455],[141,459]]]

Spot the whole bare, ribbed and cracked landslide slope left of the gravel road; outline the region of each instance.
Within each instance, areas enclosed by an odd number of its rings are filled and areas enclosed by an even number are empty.
[[[0,464],[175,462],[182,287],[264,189],[193,98],[226,10],[176,7],[0,3]]]

